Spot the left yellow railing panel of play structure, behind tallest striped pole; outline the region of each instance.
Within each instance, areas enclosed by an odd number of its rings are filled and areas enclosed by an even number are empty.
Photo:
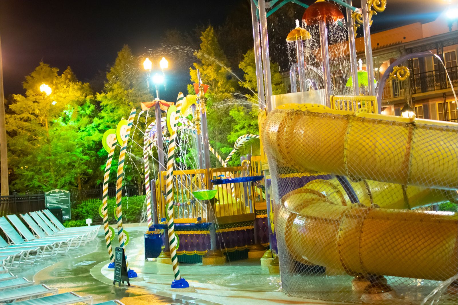
[[[165,218],[166,179],[167,172],[161,172],[161,184],[156,188],[159,219]],[[176,223],[195,223],[197,217],[202,217],[202,221],[206,220],[207,213],[202,204],[198,201],[191,203],[191,199],[194,199],[192,192],[205,189],[206,179],[205,169],[173,171],[173,201],[180,204],[175,206]]]

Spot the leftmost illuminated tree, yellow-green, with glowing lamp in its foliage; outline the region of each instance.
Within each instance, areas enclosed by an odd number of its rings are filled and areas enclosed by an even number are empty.
[[[92,90],[70,67],[58,71],[41,62],[23,83],[26,94],[13,96],[6,116],[13,190],[81,188],[92,179]],[[49,95],[40,92],[43,83]]]

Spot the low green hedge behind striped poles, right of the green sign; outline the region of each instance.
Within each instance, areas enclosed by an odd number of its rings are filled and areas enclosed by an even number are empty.
[[[142,218],[143,202],[145,196],[131,196],[122,199],[122,221],[123,223],[139,223]],[[71,209],[72,220],[64,223],[65,227],[86,226],[86,219],[92,218],[92,224],[104,223],[98,213],[98,207],[102,204],[100,199],[85,200]],[[108,223],[115,224],[114,209],[116,198],[108,199]]]

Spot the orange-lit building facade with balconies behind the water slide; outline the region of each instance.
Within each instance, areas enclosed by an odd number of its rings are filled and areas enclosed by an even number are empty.
[[[364,40],[358,36],[355,40],[357,60],[363,61],[362,69],[365,70]],[[415,22],[371,34],[377,85],[387,68],[401,56],[423,51],[435,54],[403,63],[409,68],[410,76],[405,81],[395,78],[385,84],[382,94],[383,114],[401,115],[401,109],[409,103],[418,118],[458,121],[458,103],[452,90],[453,88],[456,92],[458,85],[457,36],[457,23],[451,24],[445,13],[433,22]],[[342,53],[346,53],[344,56],[348,57],[348,41],[343,44],[331,45],[330,56],[337,53],[342,56]],[[346,87],[348,76],[344,76],[345,74],[339,68],[335,69],[332,77],[334,94],[351,94],[351,88]],[[289,87],[288,72],[283,75],[285,85],[288,84]]]

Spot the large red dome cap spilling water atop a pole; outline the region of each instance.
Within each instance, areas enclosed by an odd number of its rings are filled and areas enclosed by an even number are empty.
[[[343,18],[344,15],[336,5],[323,0],[318,0],[310,5],[305,10],[304,16],[302,16],[302,20],[307,25],[316,25],[320,21],[324,21],[327,24],[335,23]]]

